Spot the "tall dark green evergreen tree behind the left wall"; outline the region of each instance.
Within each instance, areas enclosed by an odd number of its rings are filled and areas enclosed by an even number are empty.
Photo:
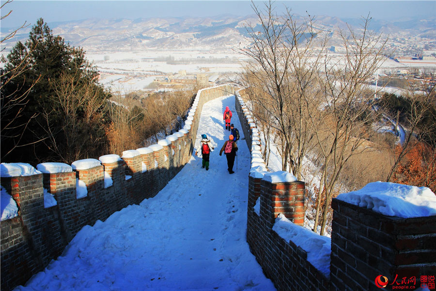
[[[15,111],[1,116],[1,137],[8,136],[9,145],[15,145],[8,148],[3,143],[2,162],[71,163],[71,159],[98,155],[104,146],[102,114],[109,95],[97,83],[98,72],[86,60],[84,50],[54,36],[40,18],[25,45],[18,42],[8,55],[2,76],[12,76],[17,70],[20,74],[1,86],[2,113],[8,100],[25,96],[16,102]],[[96,108],[90,109],[91,105]],[[19,118],[10,128],[19,132],[11,134],[3,128],[3,117],[12,119],[17,112]],[[69,142],[74,145],[65,144]]]

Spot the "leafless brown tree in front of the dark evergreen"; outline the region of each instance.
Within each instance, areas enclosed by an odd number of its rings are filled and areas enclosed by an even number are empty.
[[[62,73],[52,87],[54,94],[50,98],[55,106],[41,113],[44,124],[40,125],[47,134],[43,142],[53,159],[71,163],[99,155],[98,149],[106,142],[106,99],[99,87],[93,86],[93,80],[80,79],[70,72]],[[55,120],[54,115],[58,116]]]

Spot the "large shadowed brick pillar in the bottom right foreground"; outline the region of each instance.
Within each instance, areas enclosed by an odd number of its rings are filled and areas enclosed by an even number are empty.
[[[436,274],[436,216],[398,218],[332,201],[330,278],[335,290],[380,290],[375,278],[383,275],[393,290],[403,277]],[[393,283],[393,285],[391,285]],[[410,289],[410,288],[409,288]],[[412,289],[413,290],[413,289]]]

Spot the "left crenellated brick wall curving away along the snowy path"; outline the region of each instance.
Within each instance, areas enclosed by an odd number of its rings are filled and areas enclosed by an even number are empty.
[[[23,285],[42,271],[83,226],[104,221],[115,211],[155,196],[189,161],[203,104],[233,95],[234,90],[223,85],[198,91],[189,111],[190,122],[169,142],[161,143],[161,148],[91,169],[1,177],[1,185],[18,206],[17,217],[1,221],[1,290]],[[104,173],[112,178],[112,186],[107,188]],[[132,178],[126,180],[126,175]],[[85,182],[88,191],[80,199],[76,178]],[[56,206],[44,208],[44,189],[54,195]]]

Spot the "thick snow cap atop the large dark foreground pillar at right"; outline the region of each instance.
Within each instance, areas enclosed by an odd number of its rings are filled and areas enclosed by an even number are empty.
[[[436,215],[436,196],[427,187],[373,182],[337,199],[387,216],[402,218]]]

